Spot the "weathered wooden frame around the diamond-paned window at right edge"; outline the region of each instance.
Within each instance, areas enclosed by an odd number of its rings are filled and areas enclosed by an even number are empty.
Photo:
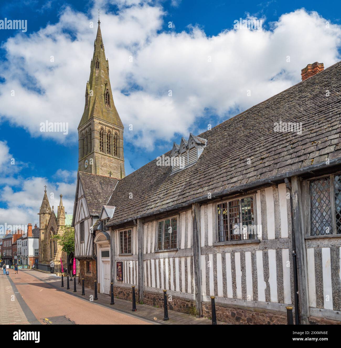
[[[335,175],[341,176],[341,172],[333,172],[330,174],[324,174],[324,175],[319,175],[319,176],[314,176],[311,177],[307,180],[302,181],[302,193],[303,193],[303,206],[307,207],[307,214],[306,214],[306,219],[305,220],[305,231],[306,239],[316,239],[316,238],[341,238],[341,233],[337,233],[336,231],[336,216],[335,216],[335,192],[334,192],[334,177]],[[332,233],[326,234],[326,235],[311,235],[311,198],[310,198],[310,182],[318,179],[323,179],[324,177],[329,177],[330,180],[330,205],[331,205],[331,218],[332,218]],[[304,187],[306,184],[306,188]]]

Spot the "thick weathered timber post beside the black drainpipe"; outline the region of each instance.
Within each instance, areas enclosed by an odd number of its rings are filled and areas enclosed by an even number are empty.
[[[296,255],[297,255],[297,276],[298,276],[298,294],[299,294],[299,311],[300,324],[309,324],[309,307],[308,307],[308,282],[307,282],[307,264],[306,264],[306,246],[305,231],[301,228],[303,211],[308,207],[304,207],[301,203],[300,182],[297,176],[291,178],[292,193],[292,213],[293,228],[295,234]],[[302,210],[303,209],[303,210]]]

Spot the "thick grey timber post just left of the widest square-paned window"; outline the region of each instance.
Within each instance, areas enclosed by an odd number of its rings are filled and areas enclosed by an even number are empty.
[[[193,266],[194,266],[194,292],[196,296],[197,317],[202,316],[201,292],[201,242],[200,242],[200,206],[192,204],[193,218]]]

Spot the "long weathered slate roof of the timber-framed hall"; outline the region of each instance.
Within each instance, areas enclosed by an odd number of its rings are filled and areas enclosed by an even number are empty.
[[[119,180],[108,225],[340,157],[340,103],[338,62],[200,134],[207,146],[195,165],[171,175],[155,159]],[[302,134],[274,132],[280,120],[302,122]]]

